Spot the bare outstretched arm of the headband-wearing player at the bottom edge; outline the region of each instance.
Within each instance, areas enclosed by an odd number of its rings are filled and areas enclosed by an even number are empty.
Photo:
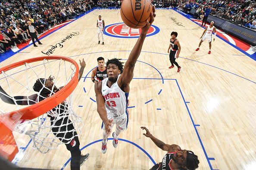
[[[146,134],[143,134],[143,135],[145,137],[149,137],[160,149],[167,152],[176,152],[178,150],[181,150],[181,147],[179,147],[178,145],[175,145],[175,144],[168,145],[163,143],[161,140],[157,139],[156,137],[154,137],[152,134],[150,134],[150,131],[147,129],[147,127],[140,127],[140,128],[143,130],[146,130]]]

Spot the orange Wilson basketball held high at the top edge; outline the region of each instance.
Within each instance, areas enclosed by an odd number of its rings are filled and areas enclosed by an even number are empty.
[[[152,12],[150,0],[124,0],[121,5],[121,18],[124,23],[131,28],[144,27],[150,21]]]

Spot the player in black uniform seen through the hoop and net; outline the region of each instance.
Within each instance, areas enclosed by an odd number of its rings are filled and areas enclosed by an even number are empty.
[[[84,72],[84,67],[85,67],[84,59],[83,61],[80,61],[80,65],[81,65],[81,68],[79,70],[78,81],[81,79]],[[43,84],[45,88],[43,87]],[[40,95],[32,94],[29,97],[14,96],[13,98],[17,100],[16,103],[18,105],[32,105],[49,97],[49,95],[52,93],[49,89],[53,89],[53,92],[57,93],[61,88],[63,88],[63,86],[60,88],[57,88],[56,86],[53,87],[53,85],[54,85],[53,77],[50,76],[48,79],[40,78],[40,79],[37,79],[37,81],[34,83],[34,86],[33,86],[34,91],[40,92]],[[0,86],[0,91],[6,96],[9,96],[3,90],[3,88],[1,88],[1,86]],[[0,98],[4,102],[15,104],[15,102],[12,100],[12,97],[10,96],[6,97],[3,94],[0,93]],[[89,154],[87,153],[86,155],[81,155],[81,151],[79,149],[80,142],[77,137],[76,131],[74,131],[75,127],[72,121],[69,120],[68,118],[69,114],[66,114],[65,117],[64,116],[61,117],[62,115],[65,115],[65,110],[67,110],[66,109],[67,107],[68,105],[65,103],[65,101],[63,101],[58,106],[56,106],[55,108],[47,112],[47,116],[50,118],[50,124],[52,126],[51,131],[59,140],[65,143],[67,150],[69,150],[69,152],[71,153],[71,163],[70,163],[71,170],[80,170],[80,166],[84,164],[84,161],[86,161],[89,158]],[[60,116],[57,121],[56,121],[56,117],[51,116],[51,113],[53,112],[57,112]],[[66,126],[66,124],[69,124],[69,125]],[[68,132],[63,133],[63,131],[67,131],[67,130]],[[67,141],[65,139],[71,139],[71,140]]]

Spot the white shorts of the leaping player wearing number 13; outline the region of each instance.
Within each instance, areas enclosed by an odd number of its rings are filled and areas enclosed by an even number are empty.
[[[114,119],[111,125],[111,129],[114,126],[114,124],[116,124],[116,128],[118,128],[121,131],[125,131],[127,129],[128,117],[126,114],[124,114],[123,116],[119,116],[118,118],[113,118],[112,116],[108,115],[108,119]],[[101,128],[103,128],[103,130],[105,131],[105,124],[103,122]]]

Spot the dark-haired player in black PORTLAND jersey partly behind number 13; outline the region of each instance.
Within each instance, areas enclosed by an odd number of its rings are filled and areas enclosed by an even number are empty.
[[[97,61],[98,61],[98,66],[92,71],[92,74],[91,74],[91,81],[93,81],[94,83],[100,82],[103,79],[106,79],[108,77],[106,73],[104,58],[99,57],[97,58]],[[97,80],[94,79],[95,76]]]

